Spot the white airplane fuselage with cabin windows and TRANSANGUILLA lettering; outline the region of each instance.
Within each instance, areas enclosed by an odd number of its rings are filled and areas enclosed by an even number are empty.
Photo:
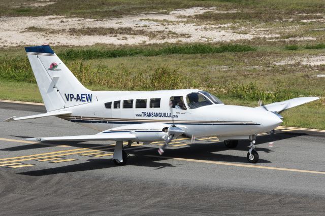
[[[60,118],[99,131],[139,123],[167,123],[184,128],[189,136],[215,135],[230,139],[241,136],[248,138],[247,135],[250,134],[271,131],[282,123],[282,120],[271,112],[252,107],[224,105],[221,101],[208,101],[209,104],[191,107],[188,95],[194,92],[199,95],[204,91],[185,89],[124,94],[117,92],[116,96],[112,91],[100,94],[93,92],[92,99],[100,99],[69,107],[72,115]],[[175,100],[181,100],[182,109],[175,108]],[[201,100],[209,99],[202,94]]]

